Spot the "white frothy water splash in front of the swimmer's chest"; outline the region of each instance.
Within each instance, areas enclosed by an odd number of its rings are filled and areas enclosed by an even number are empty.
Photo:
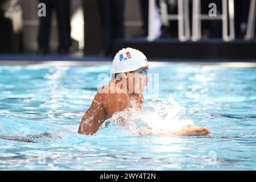
[[[193,125],[192,120],[182,118],[185,108],[174,100],[172,94],[167,100],[151,100],[145,105],[147,109],[139,109],[139,104],[131,99],[132,107],[115,113],[105,121],[106,125],[101,126],[100,132],[104,133],[108,126],[110,129],[113,127],[113,133],[119,130],[125,135],[137,136],[147,133],[171,133],[186,125]]]

